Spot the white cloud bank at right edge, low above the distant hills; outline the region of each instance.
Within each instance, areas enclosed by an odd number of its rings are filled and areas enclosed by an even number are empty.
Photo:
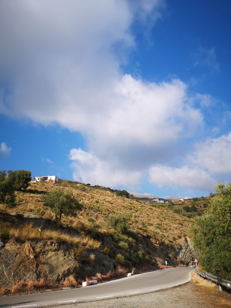
[[[215,185],[229,180],[231,166],[231,132],[195,144],[193,154],[179,168],[155,165],[149,169],[150,182],[158,186],[195,188],[212,191]]]

